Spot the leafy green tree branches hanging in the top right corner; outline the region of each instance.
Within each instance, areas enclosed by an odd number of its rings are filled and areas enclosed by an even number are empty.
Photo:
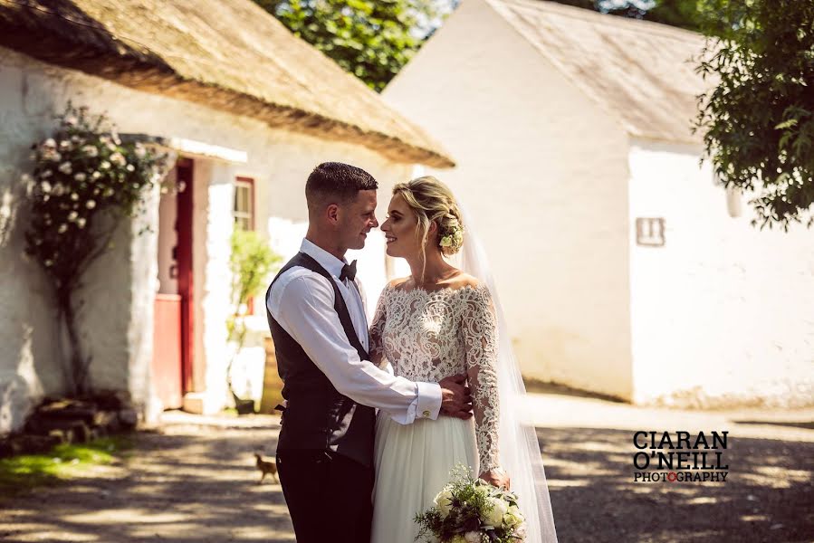
[[[709,0],[720,37],[698,71],[697,129],[727,187],[754,191],[752,224],[814,224],[814,3]],[[723,27],[721,26],[723,22]],[[723,28],[723,30],[722,30]]]

